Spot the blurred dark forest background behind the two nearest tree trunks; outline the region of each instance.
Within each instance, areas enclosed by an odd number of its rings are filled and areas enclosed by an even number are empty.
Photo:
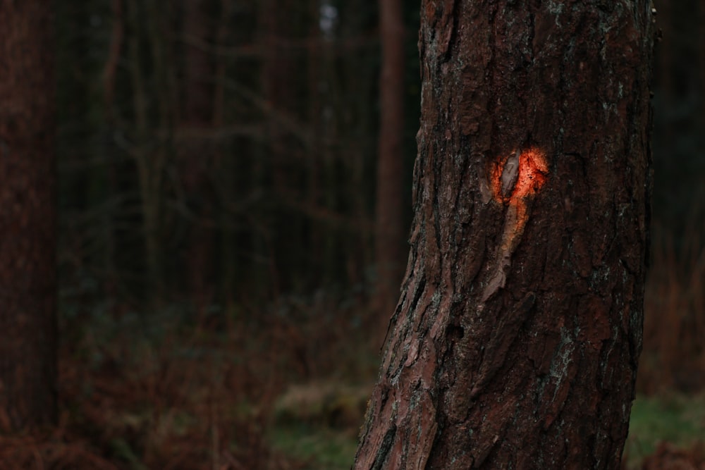
[[[61,419],[0,467],[349,468],[407,255],[419,3],[392,127],[376,2],[54,5]],[[627,464],[702,469],[705,2],[656,8]]]

